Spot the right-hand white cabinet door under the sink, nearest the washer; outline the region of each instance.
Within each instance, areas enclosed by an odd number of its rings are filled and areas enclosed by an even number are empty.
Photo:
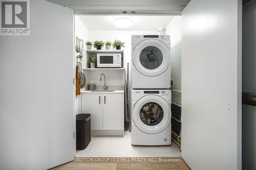
[[[123,94],[103,94],[103,129],[122,130],[124,126]]]

